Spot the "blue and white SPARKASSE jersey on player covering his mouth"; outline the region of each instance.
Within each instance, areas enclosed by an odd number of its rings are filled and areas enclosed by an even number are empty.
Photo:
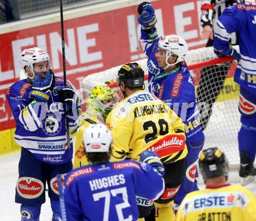
[[[48,164],[65,164],[72,160],[72,136],[71,148],[67,148],[65,114],[56,91],[57,86],[63,85],[63,79],[56,77],[54,90],[47,103],[30,99],[32,85],[27,79],[13,84],[7,93],[16,122],[16,142],[27,148],[38,160]],[[79,122],[77,113],[68,118],[70,129],[76,127]]]

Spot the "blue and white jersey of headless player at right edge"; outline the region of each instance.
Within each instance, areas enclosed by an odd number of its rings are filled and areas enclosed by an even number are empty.
[[[214,48],[226,49],[233,32],[239,32],[241,59],[234,81],[256,95],[256,6],[237,4],[226,8],[215,24]]]

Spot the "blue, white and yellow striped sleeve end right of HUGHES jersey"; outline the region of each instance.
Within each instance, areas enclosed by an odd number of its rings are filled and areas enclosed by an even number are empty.
[[[156,153],[149,150],[144,150],[140,154],[140,161],[151,165],[154,169],[157,169],[158,173],[160,173],[162,176],[165,174],[165,166],[163,166],[162,161]]]

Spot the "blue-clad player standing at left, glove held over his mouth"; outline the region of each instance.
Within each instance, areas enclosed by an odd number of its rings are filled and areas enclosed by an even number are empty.
[[[47,182],[52,220],[59,220],[55,177],[72,169],[73,155],[71,136],[67,148],[65,112],[71,130],[79,121],[79,99],[69,84],[64,86],[62,78],[55,78],[44,50],[23,50],[20,63],[27,79],[17,81],[7,92],[16,122],[15,140],[22,146],[15,202],[22,204],[22,220],[39,220]],[[64,111],[66,104],[68,109]]]

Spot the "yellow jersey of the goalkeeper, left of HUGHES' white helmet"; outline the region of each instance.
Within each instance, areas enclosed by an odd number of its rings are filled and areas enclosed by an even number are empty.
[[[81,126],[79,127],[79,129],[77,129],[73,169],[88,165],[88,160],[86,157],[84,144],[83,144],[83,135],[84,135],[84,132],[86,132],[86,129],[88,128],[89,125],[96,124],[98,122],[99,121],[97,117],[94,117],[94,116],[91,116],[86,119],[81,119],[80,121]]]

